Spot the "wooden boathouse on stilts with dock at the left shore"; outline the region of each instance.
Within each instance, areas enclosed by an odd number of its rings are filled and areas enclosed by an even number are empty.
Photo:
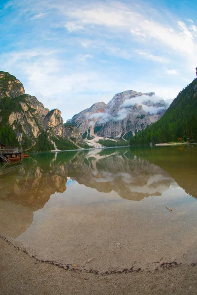
[[[3,143],[0,143],[0,160],[3,162],[11,162],[22,160],[22,148],[6,147]]]

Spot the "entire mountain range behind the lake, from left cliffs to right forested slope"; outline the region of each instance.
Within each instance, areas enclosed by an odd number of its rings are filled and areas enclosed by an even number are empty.
[[[197,79],[179,92],[170,107],[154,92],[126,90],[98,102],[64,124],[58,109],[45,108],[25,93],[15,76],[0,71],[0,142],[30,151],[88,148],[103,139],[149,144],[197,140]],[[148,127],[148,128],[147,128]]]

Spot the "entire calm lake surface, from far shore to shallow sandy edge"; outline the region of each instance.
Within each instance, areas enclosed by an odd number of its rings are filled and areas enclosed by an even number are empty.
[[[31,255],[99,271],[197,262],[197,147],[37,153],[11,166],[0,235]]]

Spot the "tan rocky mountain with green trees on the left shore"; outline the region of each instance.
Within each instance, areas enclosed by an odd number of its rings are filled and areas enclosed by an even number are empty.
[[[87,146],[75,126],[68,132],[60,110],[46,109],[35,96],[25,93],[15,76],[3,71],[0,71],[0,142],[29,152]]]

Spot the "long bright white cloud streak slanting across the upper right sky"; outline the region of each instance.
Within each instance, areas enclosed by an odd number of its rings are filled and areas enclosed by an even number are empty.
[[[171,28],[167,23],[148,19],[142,10],[115,2],[115,4],[101,4],[99,7],[77,9],[66,13],[77,24],[105,26],[111,29],[128,30],[135,36],[157,40],[166,47],[176,50],[180,54],[195,54],[196,44],[193,33],[182,21],[177,22],[177,28]]]

